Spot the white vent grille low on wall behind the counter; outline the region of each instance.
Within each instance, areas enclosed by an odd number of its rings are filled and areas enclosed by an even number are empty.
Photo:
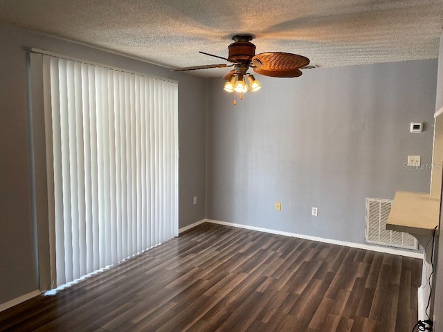
[[[418,250],[418,241],[411,234],[386,230],[391,199],[366,199],[365,241],[368,243]]]

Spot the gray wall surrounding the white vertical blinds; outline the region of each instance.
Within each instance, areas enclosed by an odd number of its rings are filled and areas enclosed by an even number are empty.
[[[71,57],[178,80],[179,227],[204,219],[206,86],[203,78],[171,73],[166,68],[2,24],[0,44],[0,304],[38,288],[30,194],[26,53],[22,46],[44,48]],[[42,132],[38,124],[35,129],[37,133]],[[40,138],[37,134],[35,144],[38,146],[43,144]],[[36,165],[44,163],[42,158],[44,156],[36,154]],[[42,188],[37,187],[39,189]],[[192,205],[193,196],[199,197],[197,205]]]

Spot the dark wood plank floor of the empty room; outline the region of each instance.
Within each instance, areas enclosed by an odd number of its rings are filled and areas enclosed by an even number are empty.
[[[421,262],[204,223],[53,296],[0,331],[411,331]]]

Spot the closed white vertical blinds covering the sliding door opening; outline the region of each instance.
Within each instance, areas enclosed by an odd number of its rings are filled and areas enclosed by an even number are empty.
[[[42,56],[60,286],[178,235],[177,83]]]

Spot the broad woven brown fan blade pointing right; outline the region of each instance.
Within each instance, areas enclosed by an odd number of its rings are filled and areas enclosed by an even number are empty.
[[[252,58],[255,73],[271,77],[298,77],[302,68],[309,64],[309,59],[302,55],[283,52],[267,52]]]

